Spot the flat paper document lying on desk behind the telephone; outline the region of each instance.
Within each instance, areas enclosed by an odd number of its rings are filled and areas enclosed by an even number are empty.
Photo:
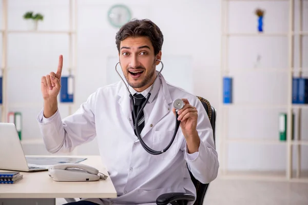
[[[86,160],[87,158],[77,158],[77,157],[28,157],[26,156],[28,164],[31,165],[55,165],[57,163],[79,163]]]

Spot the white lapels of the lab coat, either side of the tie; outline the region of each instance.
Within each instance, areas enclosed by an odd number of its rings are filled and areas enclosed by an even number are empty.
[[[158,73],[158,72],[157,72]],[[170,109],[170,105],[172,104],[172,99],[169,93],[168,85],[163,77],[162,74],[158,76],[158,79],[156,80],[157,85],[153,87],[152,93],[150,98],[153,97],[151,100],[154,99],[156,92],[158,100],[153,107],[153,111],[151,112],[148,120],[145,122],[145,127],[143,128],[141,132],[141,137],[143,138],[166,114],[168,114],[172,110]],[[157,91],[155,91],[155,88]],[[136,91],[135,91],[136,92]],[[131,99],[129,97],[129,93],[127,92],[127,88],[124,85],[123,81],[119,84],[119,92],[118,95],[120,96],[120,99],[118,103],[121,106],[122,112],[124,113],[125,118],[127,119],[127,122],[129,126],[132,128],[132,120],[131,119],[131,111],[132,111],[132,104]],[[150,99],[149,99],[150,100]],[[159,112],[158,112],[159,111]],[[132,128],[133,132],[133,128]]]

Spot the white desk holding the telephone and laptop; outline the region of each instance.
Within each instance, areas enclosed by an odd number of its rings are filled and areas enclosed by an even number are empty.
[[[58,156],[58,155],[56,155]],[[46,157],[55,157],[46,156]],[[61,157],[61,156],[59,156]],[[65,157],[84,157],[86,160],[80,162],[98,169],[101,173],[108,176],[106,180],[82,181],[82,182],[59,182],[53,181],[48,175],[48,171],[40,172],[21,172],[23,179],[14,184],[0,184],[0,204],[11,204],[13,198],[37,199],[34,204],[55,204],[55,198],[114,198],[117,192],[108,175],[107,170],[102,164],[100,156],[65,156]],[[5,171],[5,170],[0,170]],[[6,198],[6,199],[4,199]],[[9,198],[9,199],[8,199]],[[49,202],[40,199],[51,199]],[[30,200],[29,200],[30,201]],[[3,203],[1,203],[3,202]],[[32,204],[32,203],[27,203]]]

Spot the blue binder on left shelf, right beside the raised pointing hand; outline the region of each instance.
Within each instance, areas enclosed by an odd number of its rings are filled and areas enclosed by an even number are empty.
[[[74,78],[73,76],[61,77],[60,101],[61,103],[72,103],[74,100]]]

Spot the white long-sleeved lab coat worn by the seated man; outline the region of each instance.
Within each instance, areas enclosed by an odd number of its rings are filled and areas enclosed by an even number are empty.
[[[51,153],[71,152],[97,137],[100,154],[118,197],[87,200],[99,204],[156,204],[156,198],[164,193],[196,195],[186,162],[192,174],[203,183],[213,181],[219,168],[213,130],[200,100],[166,83],[161,74],[144,109],[142,139],[154,150],[162,150],[169,144],[175,129],[172,102],[177,98],[187,98],[198,109],[199,152],[188,154],[179,128],[169,150],[160,155],[147,153],[134,134],[130,97],[123,81],[99,88],[71,116],[61,119],[57,111],[46,119],[42,110],[37,120],[46,149]]]

